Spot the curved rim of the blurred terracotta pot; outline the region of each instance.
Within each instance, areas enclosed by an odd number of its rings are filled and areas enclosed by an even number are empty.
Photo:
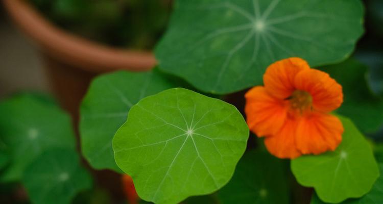
[[[145,71],[156,60],[151,52],[108,47],[57,28],[23,0],[3,0],[18,27],[32,38],[42,52],[86,71],[100,73],[118,69]]]

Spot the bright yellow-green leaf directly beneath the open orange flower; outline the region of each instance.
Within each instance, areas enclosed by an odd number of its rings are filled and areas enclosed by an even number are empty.
[[[331,203],[363,196],[379,176],[371,145],[351,120],[340,119],[345,132],[335,151],[302,156],[291,162],[298,183],[314,187],[323,201]]]

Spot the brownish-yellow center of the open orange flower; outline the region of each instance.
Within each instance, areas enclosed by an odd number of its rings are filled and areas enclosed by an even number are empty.
[[[291,109],[298,110],[300,113],[311,109],[313,105],[313,97],[307,91],[296,90],[288,99]]]

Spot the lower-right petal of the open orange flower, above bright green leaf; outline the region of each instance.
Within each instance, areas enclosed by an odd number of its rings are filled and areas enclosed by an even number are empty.
[[[321,154],[335,150],[342,141],[343,125],[338,117],[312,113],[302,117],[297,126],[296,144],[302,154]]]

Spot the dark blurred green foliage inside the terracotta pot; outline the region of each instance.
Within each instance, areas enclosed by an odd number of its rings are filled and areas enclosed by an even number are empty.
[[[117,47],[150,49],[164,31],[171,0],[31,0],[59,27]]]

